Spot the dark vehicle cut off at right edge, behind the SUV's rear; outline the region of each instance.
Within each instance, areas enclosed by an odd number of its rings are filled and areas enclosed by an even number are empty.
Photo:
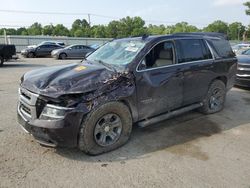
[[[250,87],[250,55],[238,55],[238,71],[236,85]]]

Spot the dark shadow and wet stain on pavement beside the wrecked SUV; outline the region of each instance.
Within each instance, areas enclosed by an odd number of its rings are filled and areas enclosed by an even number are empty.
[[[209,156],[201,151],[198,144],[195,144],[196,141],[250,123],[250,111],[246,110],[249,108],[246,100],[249,102],[250,95],[246,93],[249,91],[239,89],[230,91],[225,109],[217,114],[206,116],[198,112],[189,112],[144,129],[134,126],[130,141],[110,153],[89,157],[77,149],[57,149],[56,152],[71,160],[89,162],[125,162],[149,157],[157,151],[180,156],[188,155],[205,161]]]

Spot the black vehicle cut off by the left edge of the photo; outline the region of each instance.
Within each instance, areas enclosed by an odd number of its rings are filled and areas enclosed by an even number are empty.
[[[15,45],[0,44],[0,67],[16,55]]]

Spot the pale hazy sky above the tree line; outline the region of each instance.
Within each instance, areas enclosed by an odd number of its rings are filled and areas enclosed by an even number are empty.
[[[75,19],[107,24],[126,16],[140,16],[146,24],[172,25],[186,21],[203,28],[215,20],[250,24],[245,15],[245,0],[5,0],[0,6],[0,27],[64,24],[70,27]],[[11,12],[8,12],[12,10]],[[24,14],[14,11],[54,12],[63,14]]]

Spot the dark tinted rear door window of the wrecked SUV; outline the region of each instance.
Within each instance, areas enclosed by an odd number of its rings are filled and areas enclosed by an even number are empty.
[[[202,39],[176,41],[178,63],[212,59],[212,54]]]

